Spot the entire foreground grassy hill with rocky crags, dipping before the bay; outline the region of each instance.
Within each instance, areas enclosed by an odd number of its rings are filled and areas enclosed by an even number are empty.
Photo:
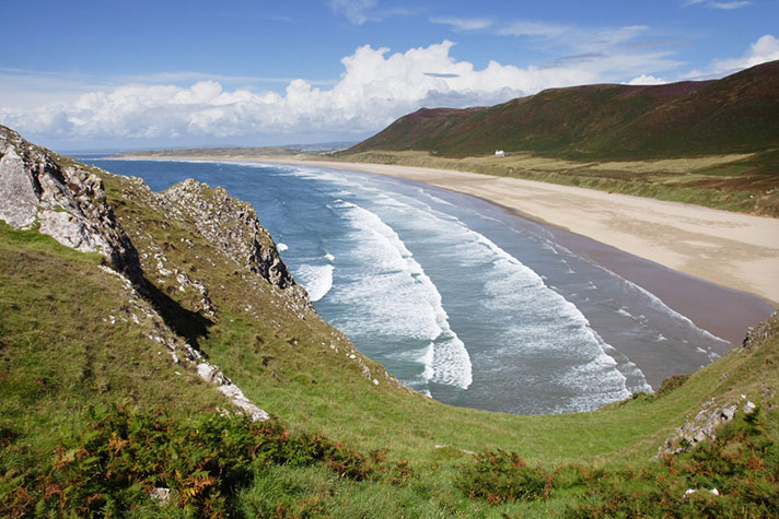
[[[0,127],[0,219],[3,517],[779,511],[776,317],[655,394],[493,414],[363,357],[219,188]]]

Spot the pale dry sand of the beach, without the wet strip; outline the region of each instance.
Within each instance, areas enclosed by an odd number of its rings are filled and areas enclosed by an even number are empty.
[[[473,194],[779,306],[779,219],[474,173],[307,164],[408,178]]]

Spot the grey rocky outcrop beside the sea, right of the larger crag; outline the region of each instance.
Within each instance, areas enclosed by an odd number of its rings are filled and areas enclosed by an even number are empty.
[[[259,225],[248,202],[222,188],[189,179],[160,194],[172,214],[188,220],[235,263],[279,288],[299,288],[281,261],[270,234]],[[298,292],[302,291],[298,290]]]

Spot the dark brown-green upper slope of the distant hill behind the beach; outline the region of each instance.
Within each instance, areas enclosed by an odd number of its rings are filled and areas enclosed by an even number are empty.
[[[347,153],[447,157],[528,151],[567,158],[753,153],[779,143],[779,62],[718,81],[553,89],[490,108],[426,109]]]

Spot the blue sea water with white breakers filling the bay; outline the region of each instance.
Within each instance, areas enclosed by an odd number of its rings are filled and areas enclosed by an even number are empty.
[[[153,190],[195,178],[251,202],[317,312],[446,403],[594,410],[730,346],[542,225],[473,197],[309,165],[90,162]]]

